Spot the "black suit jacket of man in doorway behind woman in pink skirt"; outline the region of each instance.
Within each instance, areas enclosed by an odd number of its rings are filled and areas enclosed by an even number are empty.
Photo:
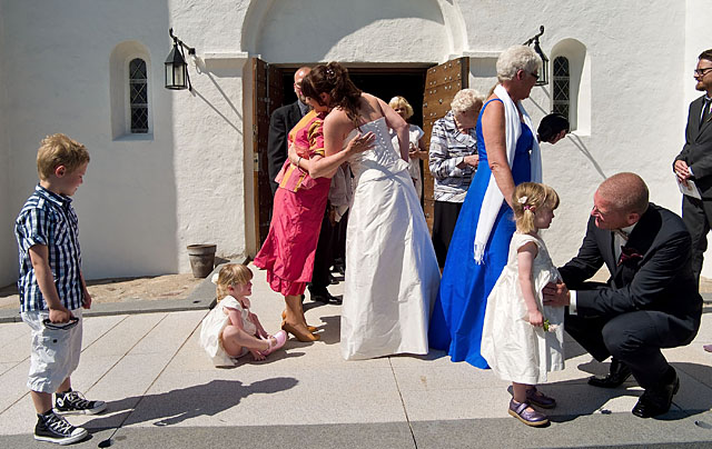
[[[269,171],[269,186],[271,194],[277,191],[277,182],[275,178],[279,174],[281,166],[287,160],[287,134],[291,131],[299,120],[301,120],[301,110],[299,102],[286,104],[275,109],[269,118],[269,136],[267,137],[267,169]]]

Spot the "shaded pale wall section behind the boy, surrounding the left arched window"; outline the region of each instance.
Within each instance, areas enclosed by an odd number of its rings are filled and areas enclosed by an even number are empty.
[[[8,72],[14,154],[16,208],[37,182],[34,154],[47,134],[63,132],[91,156],[75,208],[79,216],[85,273],[156,275],[177,269],[176,182],[170,97],[162,89],[161,57],[168,48],[166,4],[67,1],[8,2],[13,44]],[[61,27],[58,27],[58,22]],[[58,34],[58,30],[62,30]],[[159,130],[152,139],[113,140],[110,54],[135,39],[160,54],[148,78]],[[159,69],[159,70],[156,70]]]

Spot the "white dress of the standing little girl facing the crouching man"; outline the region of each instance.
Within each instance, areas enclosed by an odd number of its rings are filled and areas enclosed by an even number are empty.
[[[536,243],[538,253],[532,267],[532,279],[538,309],[555,326],[553,332],[528,323],[528,311],[518,280],[517,250],[527,242]],[[543,305],[542,289],[561,279],[544,242],[536,237],[515,232],[510,243],[507,265],[487,298],[482,330],[481,353],[502,379],[517,383],[546,382],[547,371],[564,369],[564,308]]]

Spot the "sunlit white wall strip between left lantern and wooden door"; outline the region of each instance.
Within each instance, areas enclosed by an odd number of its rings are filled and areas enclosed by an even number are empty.
[[[225,258],[256,252],[251,91],[244,92],[251,66],[240,51],[248,6],[229,0],[169,3],[176,36],[197,52],[189,61],[192,93],[171,96],[171,132],[185,149],[176,159],[180,271],[189,270],[187,245],[216,243]]]

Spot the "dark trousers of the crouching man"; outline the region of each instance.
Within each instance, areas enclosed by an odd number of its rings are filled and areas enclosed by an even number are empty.
[[[639,310],[613,318],[566,313],[564,329],[596,360],[609,356],[631,368],[637,383],[654,388],[664,382],[670,365],[661,348],[688,345],[700,323],[656,310]]]

